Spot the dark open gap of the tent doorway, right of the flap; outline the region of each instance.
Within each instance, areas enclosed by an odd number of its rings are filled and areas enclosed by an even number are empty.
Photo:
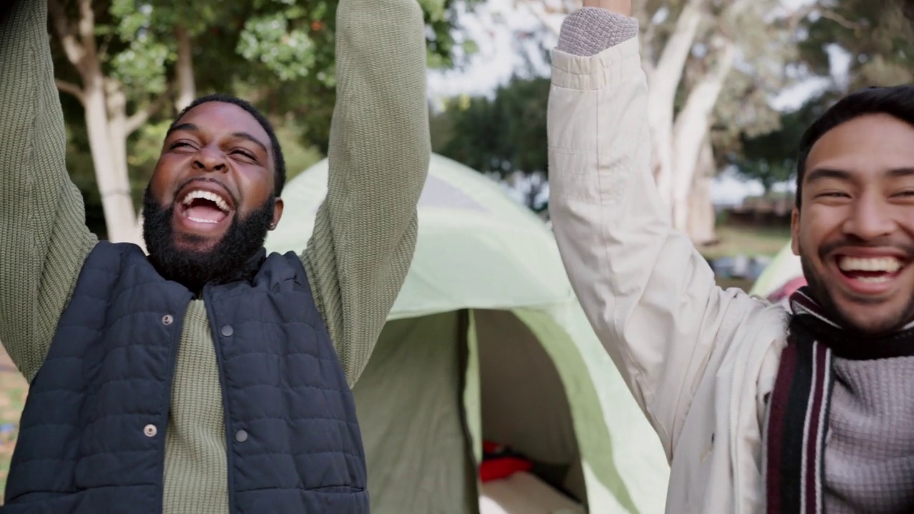
[[[587,489],[569,400],[552,359],[511,312],[474,310],[473,326],[484,441],[508,446],[532,462],[533,477],[513,478],[515,487],[543,489],[543,494],[555,495],[561,504],[568,499],[586,505]],[[536,479],[541,483],[535,483]],[[554,490],[547,491],[544,486]],[[489,484],[483,489],[495,490]],[[530,490],[529,494],[538,493]]]

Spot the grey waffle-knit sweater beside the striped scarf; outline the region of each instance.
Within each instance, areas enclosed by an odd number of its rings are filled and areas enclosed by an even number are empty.
[[[834,359],[825,512],[914,509],[914,357]]]

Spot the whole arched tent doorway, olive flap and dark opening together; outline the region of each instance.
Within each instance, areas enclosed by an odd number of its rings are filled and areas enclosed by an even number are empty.
[[[532,489],[508,492],[535,507],[503,512],[536,513],[549,498],[587,504],[558,370],[509,311],[388,322],[353,393],[373,514],[475,514],[481,494],[494,498],[515,482]],[[535,464],[531,473],[480,486],[483,440],[526,456]]]

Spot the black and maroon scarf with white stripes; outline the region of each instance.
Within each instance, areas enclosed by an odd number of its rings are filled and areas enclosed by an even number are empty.
[[[824,512],[824,453],[834,385],[833,356],[887,359],[910,355],[914,323],[886,337],[865,337],[825,316],[802,287],[771,391],[765,432],[768,514]]]

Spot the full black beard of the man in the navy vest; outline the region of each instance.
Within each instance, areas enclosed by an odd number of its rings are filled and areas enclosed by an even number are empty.
[[[237,278],[250,258],[263,248],[273,219],[274,199],[271,195],[243,220],[236,211],[222,239],[209,250],[197,252],[177,246],[172,226],[175,205],[165,208],[147,187],[143,193],[143,241],[149,260],[165,279],[182,284],[195,294],[206,284]],[[192,235],[181,238],[191,243],[205,241]]]

